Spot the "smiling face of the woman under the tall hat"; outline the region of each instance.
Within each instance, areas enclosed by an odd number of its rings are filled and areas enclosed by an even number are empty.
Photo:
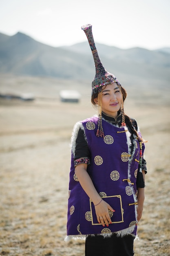
[[[97,98],[95,99],[97,102]],[[122,94],[117,83],[112,83],[102,88],[102,111],[110,116],[117,117],[117,111],[121,108]]]

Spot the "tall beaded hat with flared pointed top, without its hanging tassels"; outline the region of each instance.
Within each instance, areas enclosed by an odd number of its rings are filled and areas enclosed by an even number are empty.
[[[95,46],[93,34],[92,34],[92,25],[91,24],[84,25],[82,26],[82,30],[84,30],[87,36],[88,43],[91,47],[91,51],[95,61],[96,74],[95,74],[95,78],[92,81],[92,93],[100,92],[102,90],[103,85],[107,85],[115,82],[120,85],[116,77],[113,74],[110,74],[109,72],[107,72],[102,62],[100,61],[100,58]]]

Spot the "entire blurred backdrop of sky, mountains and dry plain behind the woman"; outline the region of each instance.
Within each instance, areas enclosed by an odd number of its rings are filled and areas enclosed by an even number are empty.
[[[84,255],[84,241],[64,237],[73,126],[96,114],[87,23],[148,140],[135,255],[170,255],[169,9],[168,0],[0,0],[0,255]]]

